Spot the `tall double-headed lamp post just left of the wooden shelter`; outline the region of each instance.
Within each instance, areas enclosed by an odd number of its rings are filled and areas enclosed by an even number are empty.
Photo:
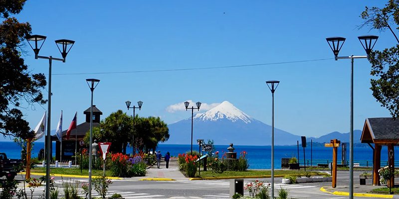
[[[365,35],[359,36],[359,41],[363,48],[366,50],[366,56],[343,56],[338,57],[342,46],[344,45],[344,37],[329,37],[326,38],[328,45],[334,53],[335,60],[339,59],[351,59],[351,116],[350,116],[350,135],[349,135],[349,197],[353,199],[353,61],[354,59],[369,58],[370,52],[373,50],[374,45],[377,42],[378,36],[375,35]]]

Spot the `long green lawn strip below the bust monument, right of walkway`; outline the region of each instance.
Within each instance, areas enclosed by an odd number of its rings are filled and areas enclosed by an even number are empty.
[[[303,170],[274,170],[274,175],[292,175],[292,176],[305,176],[306,173],[310,174],[324,174],[322,172],[305,172]],[[265,176],[271,175],[270,170],[248,170],[248,171],[224,171],[221,174],[213,173],[212,171],[201,171],[201,175],[196,177],[208,178],[208,177],[235,177],[235,176]]]

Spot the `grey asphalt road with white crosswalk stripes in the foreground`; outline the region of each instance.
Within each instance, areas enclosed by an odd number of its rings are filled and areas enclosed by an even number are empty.
[[[361,172],[355,172],[354,176],[358,176]],[[20,178],[20,177],[19,177]],[[356,178],[355,178],[356,179]],[[254,179],[245,179],[244,184]],[[270,179],[259,179],[265,183],[270,183]],[[359,180],[355,180],[358,184]],[[60,197],[63,195],[62,184],[65,182],[84,183],[88,179],[61,179],[56,177],[56,185],[59,187]],[[339,184],[349,184],[349,173],[338,173]],[[229,198],[229,180],[206,180],[206,181],[133,181],[113,180],[109,187],[108,196],[114,193],[121,194],[125,199],[227,199]],[[281,186],[281,187],[280,187]],[[308,184],[281,184],[281,178],[275,178],[275,194],[277,195],[280,188],[289,192],[289,198],[293,199],[345,199],[348,197],[335,196],[320,191],[321,187],[331,186],[331,182],[326,183],[308,183]],[[80,187],[80,186],[79,186]],[[33,193],[33,199],[38,199],[43,193],[44,187],[36,188]],[[270,189],[269,189],[270,190]],[[84,197],[78,190],[79,195]],[[27,193],[29,188],[27,188]],[[244,191],[244,195],[248,196],[248,192]],[[28,194],[29,196],[29,194]],[[92,197],[98,197],[96,191],[92,192]],[[355,197],[356,198],[356,197]],[[360,198],[356,198],[360,199]],[[371,198],[369,198],[371,199]]]

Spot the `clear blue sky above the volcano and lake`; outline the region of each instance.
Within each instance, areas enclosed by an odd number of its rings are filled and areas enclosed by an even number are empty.
[[[271,93],[265,81],[281,81],[275,93],[275,127],[319,137],[349,131],[350,60],[333,59],[325,38],[346,37],[340,56],[365,55],[357,36],[380,36],[375,49],[396,44],[390,32],[358,30],[365,6],[385,1],[154,1],[28,0],[16,17],[28,21],[33,34],[47,36],[40,55],[61,57],[54,40],[76,43],[66,63],[53,62],[52,121],[61,109],[64,129],[75,111],[78,123],[90,106],[86,78],[100,79],[94,104],[104,116],[125,101],[142,100],[140,116],[160,116],[167,123],[190,117],[168,111],[186,100],[204,104],[228,100],[248,115],[271,123]],[[48,61],[24,55],[32,73],[48,74]],[[164,72],[169,69],[224,67],[318,60],[252,67]],[[355,60],[354,127],[367,117],[388,117],[373,98],[371,65]],[[118,74],[81,74],[136,72]],[[63,74],[63,75],[62,75]],[[47,89],[43,91],[47,98]],[[204,106],[205,107],[205,106]],[[23,109],[34,128],[47,105]],[[201,111],[204,111],[202,108]],[[129,114],[133,111],[129,110]],[[2,139],[2,138],[0,138]]]

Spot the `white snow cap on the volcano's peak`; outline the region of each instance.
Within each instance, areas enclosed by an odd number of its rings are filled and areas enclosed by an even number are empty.
[[[228,101],[223,101],[216,107],[204,112],[197,114],[194,119],[196,120],[210,120],[210,121],[217,121],[220,119],[226,118],[231,120],[232,122],[236,122],[238,120],[243,121],[244,123],[251,123],[253,120],[252,117],[248,116],[240,109],[236,108],[233,104]]]

